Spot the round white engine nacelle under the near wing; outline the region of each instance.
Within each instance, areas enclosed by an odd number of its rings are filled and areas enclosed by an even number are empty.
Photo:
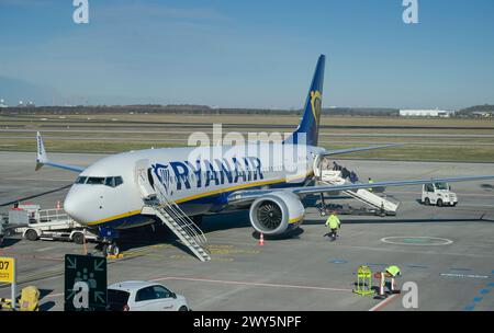
[[[299,196],[290,192],[273,192],[257,198],[250,206],[254,229],[265,234],[282,234],[297,228],[305,208]]]

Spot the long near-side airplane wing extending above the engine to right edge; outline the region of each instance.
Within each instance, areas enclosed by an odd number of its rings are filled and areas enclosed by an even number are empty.
[[[288,191],[297,195],[305,194],[317,194],[325,192],[336,192],[336,191],[349,191],[359,188],[375,188],[375,187],[393,187],[393,186],[411,186],[411,185],[423,185],[431,183],[457,183],[457,182],[475,182],[475,181],[489,181],[494,180],[494,175],[480,175],[480,176],[464,176],[464,177],[441,177],[441,179],[429,179],[429,180],[413,180],[413,181],[390,181],[390,182],[375,182],[372,184],[357,183],[357,184],[344,184],[344,185],[317,185],[317,186],[300,186],[300,187],[289,187],[289,188],[269,188],[269,190],[252,190],[252,191],[237,191],[228,196],[228,203],[240,204],[255,200],[258,197],[266,195],[268,193],[277,191]]]

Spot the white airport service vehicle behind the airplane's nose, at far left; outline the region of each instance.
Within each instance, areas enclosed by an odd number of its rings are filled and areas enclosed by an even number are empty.
[[[26,240],[60,240],[76,244],[98,240],[97,234],[76,222],[61,208],[40,209],[38,205],[18,205],[13,210],[26,216],[26,223],[15,229]]]

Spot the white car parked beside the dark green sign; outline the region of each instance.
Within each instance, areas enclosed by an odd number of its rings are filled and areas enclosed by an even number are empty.
[[[108,287],[108,305],[111,311],[189,311],[183,296],[165,286],[132,280]]]

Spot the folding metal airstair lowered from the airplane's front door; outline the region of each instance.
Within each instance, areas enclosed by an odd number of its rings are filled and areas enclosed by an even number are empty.
[[[147,179],[147,172],[142,176]],[[207,240],[202,230],[176,203],[168,199],[167,195],[162,193],[159,182],[153,174],[150,176],[154,179],[155,194],[144,199],[146,205],[143,207],[142,214],[156,216],[200,261],[210,261],[211,256],[206,249]]]

